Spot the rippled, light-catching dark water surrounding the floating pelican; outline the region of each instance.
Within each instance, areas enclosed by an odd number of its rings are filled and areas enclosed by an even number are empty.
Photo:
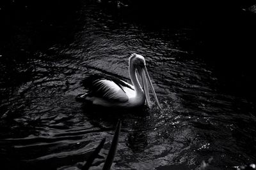
[[[95,4],[75,11],[61,24],[42,18],[14,27],[1,42],[4,169],[80,169],[106,138],[92,167],[100,169],[118,118],[113,169],[196,169],[211,157],[211,169],[255,162],[255,105],[219,90],[212,68],[187,48],[195,28],[149,29],[115,20]],[[75,100],[90,74],[129,81],[133,52],[147,60],[163,110],[102,110]]]

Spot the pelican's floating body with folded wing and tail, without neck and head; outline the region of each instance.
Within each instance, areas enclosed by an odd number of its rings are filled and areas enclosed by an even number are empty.
[[[89,91],[80,97],[95,105],[132,108],[145,103],[142,89],[136,94],[133,85],[111,76],[99,74],[89,76],[83,80],[83,86]]]

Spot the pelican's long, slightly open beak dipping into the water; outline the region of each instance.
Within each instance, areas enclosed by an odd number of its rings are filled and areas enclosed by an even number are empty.
[[[148,108],[151,108],[151,105],[150,105],[150,97],[149,97],[149,92],[148,92],[147,79],[149,81],[149,85],[150,85],[150,87],[152,89],[152,92],[154,94],[154,97],[156,99],[157,106],[161,109],[161,106],[160,106],[160,104],[158,102],[158,99],[157,99],[157,96],[156,96],[156,92],[154,90],[154,87],[153,87],[152,82],[150,80],[150,77],[148,75],[147,67],[146,66],[140,67],[140,69],[138,69],[138,71],[139,71],[140,76],[141,76],[142,85],[143,85],[143,89],[144,89],[144,92],[145,92],[145,97],[146,97],[146,101],[147,101],[147,104],[148,104]]]

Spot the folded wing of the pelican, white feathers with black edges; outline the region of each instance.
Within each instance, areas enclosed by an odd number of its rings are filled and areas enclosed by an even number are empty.
[[[129,100],[124,88],[132,89],[128,83],[113,77],[93,75],[83,81],[84,87],[89,90],[90,96],[102,97],[109,101],[126,102]],[[133,90],[133,89],[132,89]]]

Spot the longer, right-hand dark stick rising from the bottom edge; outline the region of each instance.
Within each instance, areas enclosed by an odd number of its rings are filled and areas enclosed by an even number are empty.
[[[108,152],[107,159],[106,159],[105,164],[103,166],[103,170],[110,169],[110,167],[113,163],[115,153],[116,153],[116,148],[117,148],[117,145],[118,145],[118,138],[119,138],[119,134],[120,134],[121,125],[122,125],[121,121],[118,120],[117,125],[116,125],[116,131],[115,131],[115,134],[114,134],[114,137],[113,137],[113,140],[112,140],[109,152]]]

